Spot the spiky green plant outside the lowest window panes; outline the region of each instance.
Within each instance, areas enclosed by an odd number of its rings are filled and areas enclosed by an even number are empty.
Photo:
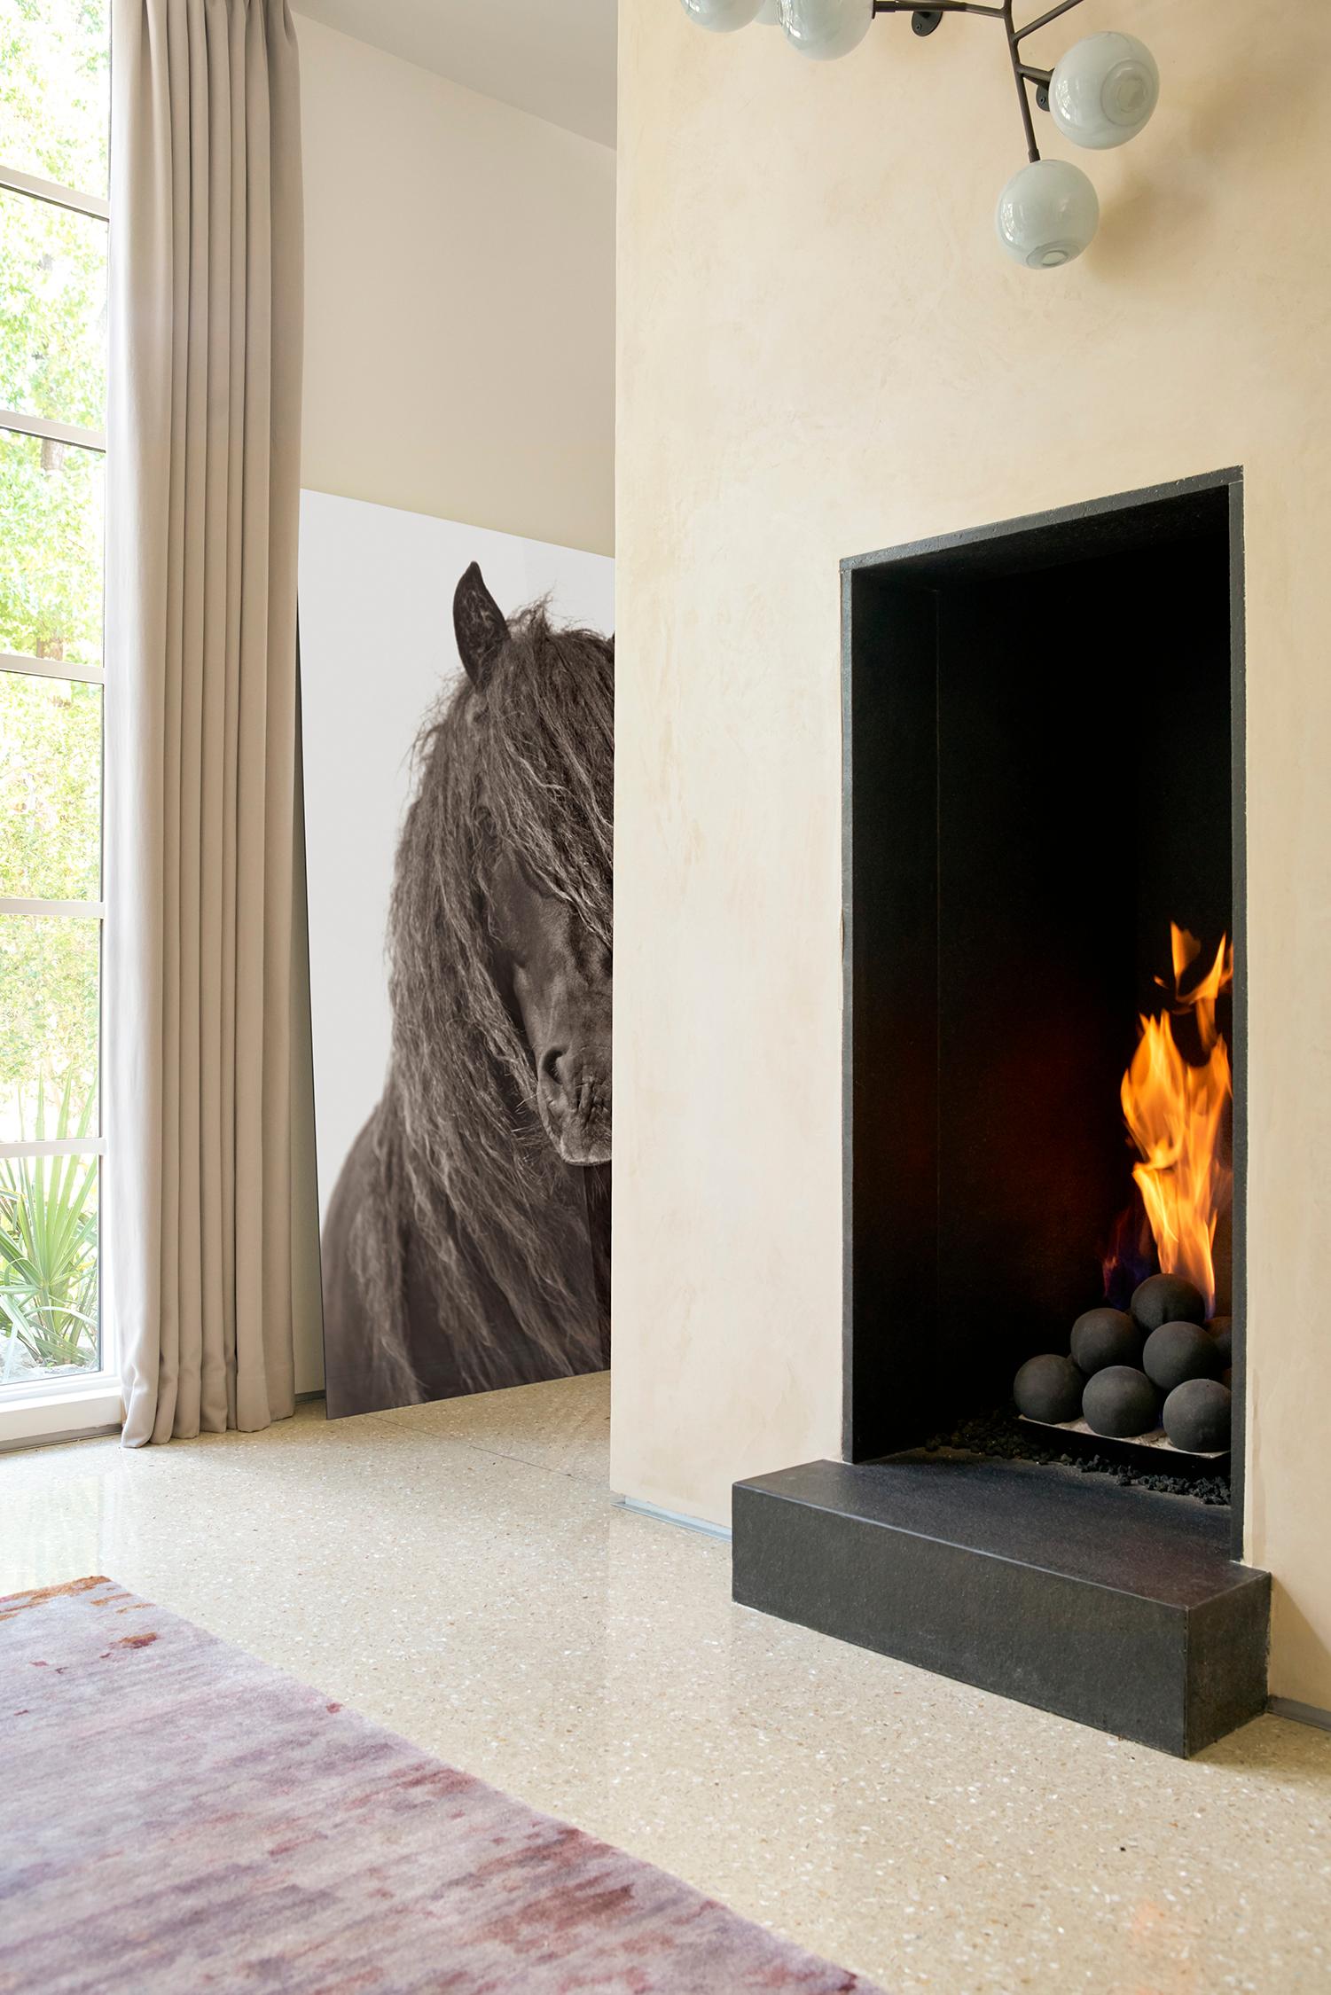
[[[72,1113],[68,1075],[46,1127],[38,1083],[38,1143],[82,1139],[94,1091]],[[16,1371],[88,1369],[98,1363],[98,1159],[0,1159],[0,1385]]]

